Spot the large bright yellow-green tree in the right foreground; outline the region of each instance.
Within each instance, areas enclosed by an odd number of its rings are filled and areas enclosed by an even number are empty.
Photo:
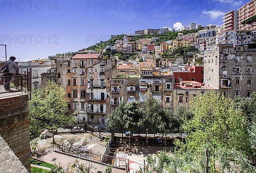
[[[216,150],[226,152],[224,155],[232,149],[249,153],[247,121],[231,98],[226,98],[216,91],[209,91],[204,95],[197,95],[190,108],[194,116],[183,125],[188,134],[183,150],[186,148],[186,152],[190,153],[204,150],[206,173],[215,167],[215,161],[218,159]],[[222,167],[222,170],[224,169],[225,167]]]

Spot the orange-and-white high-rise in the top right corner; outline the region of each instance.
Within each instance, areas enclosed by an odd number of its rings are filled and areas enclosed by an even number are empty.
[[[256,30],[255,25],[245,24],[242,22],[256,15],[256,0],[251,0],[249,3],[238,9],[238,28],[242,30]]]

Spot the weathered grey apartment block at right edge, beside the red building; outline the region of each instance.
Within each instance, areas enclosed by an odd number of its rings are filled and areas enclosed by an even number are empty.
[[[204,53],[204,82],[231,97],[256,91],[255,44],[218,44]]]

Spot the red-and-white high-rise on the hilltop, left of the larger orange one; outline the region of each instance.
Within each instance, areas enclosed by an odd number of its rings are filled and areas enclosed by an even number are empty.
[[[238,29],[238,11],[230,11],[223,15],[223,31]]]

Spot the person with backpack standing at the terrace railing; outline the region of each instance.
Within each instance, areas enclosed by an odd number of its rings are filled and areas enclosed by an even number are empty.
[[[10,82],[12,80],[12,76],[16,74],[16,70],[19,68],[19,66],[17,65],[17,63],[15,63],[14,61],[16,60],[16,58],[14,56],[11,56],[9,58],[9,60],[0,62],[0,65],[3,66],[8,66],[8,72],[4,72],[3,76],[4,76],[4,89],[6,91],[11,91],[10,89]]]

